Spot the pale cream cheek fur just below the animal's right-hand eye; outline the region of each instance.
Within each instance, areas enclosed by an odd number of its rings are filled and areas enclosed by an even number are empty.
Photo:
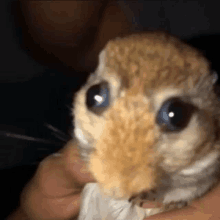
[[[163,156],[161,167],[170,173],[189,166],[211,150],[212,133],[212,128],[205,127],[205,123],[201,126],[201,117],[195,115],[183,131],[162,134],[157,145]]]

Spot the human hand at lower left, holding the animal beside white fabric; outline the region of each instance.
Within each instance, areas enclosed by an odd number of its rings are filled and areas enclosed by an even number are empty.
[[[58,154],[40,163],[21,194],[19,209],[8,219],[74,219],[79,212],[80,193],[92,181],[75,143],[70,141]]]

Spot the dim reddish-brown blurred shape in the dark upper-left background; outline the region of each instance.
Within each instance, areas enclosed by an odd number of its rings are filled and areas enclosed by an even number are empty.
[[[26,46],[46,63],[91,72],[109,39],[130,32],[114,0],[20,2]]]

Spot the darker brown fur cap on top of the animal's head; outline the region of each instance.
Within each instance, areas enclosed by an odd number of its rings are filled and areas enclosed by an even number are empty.
[[[178,86],[194,87],[209,63],[196,50],[161,32],[132,35],[110,41],[106,47],[106,69],[119,75],[126,87],[146,79],[146,90]],[[193,74],[192,74],[193,73]]]

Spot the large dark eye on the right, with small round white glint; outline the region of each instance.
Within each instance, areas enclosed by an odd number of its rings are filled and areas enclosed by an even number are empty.
[[[171,98],[162,105],[156,121],[166,131],[179,131],[187,126],[193,112],[193,105]]]

